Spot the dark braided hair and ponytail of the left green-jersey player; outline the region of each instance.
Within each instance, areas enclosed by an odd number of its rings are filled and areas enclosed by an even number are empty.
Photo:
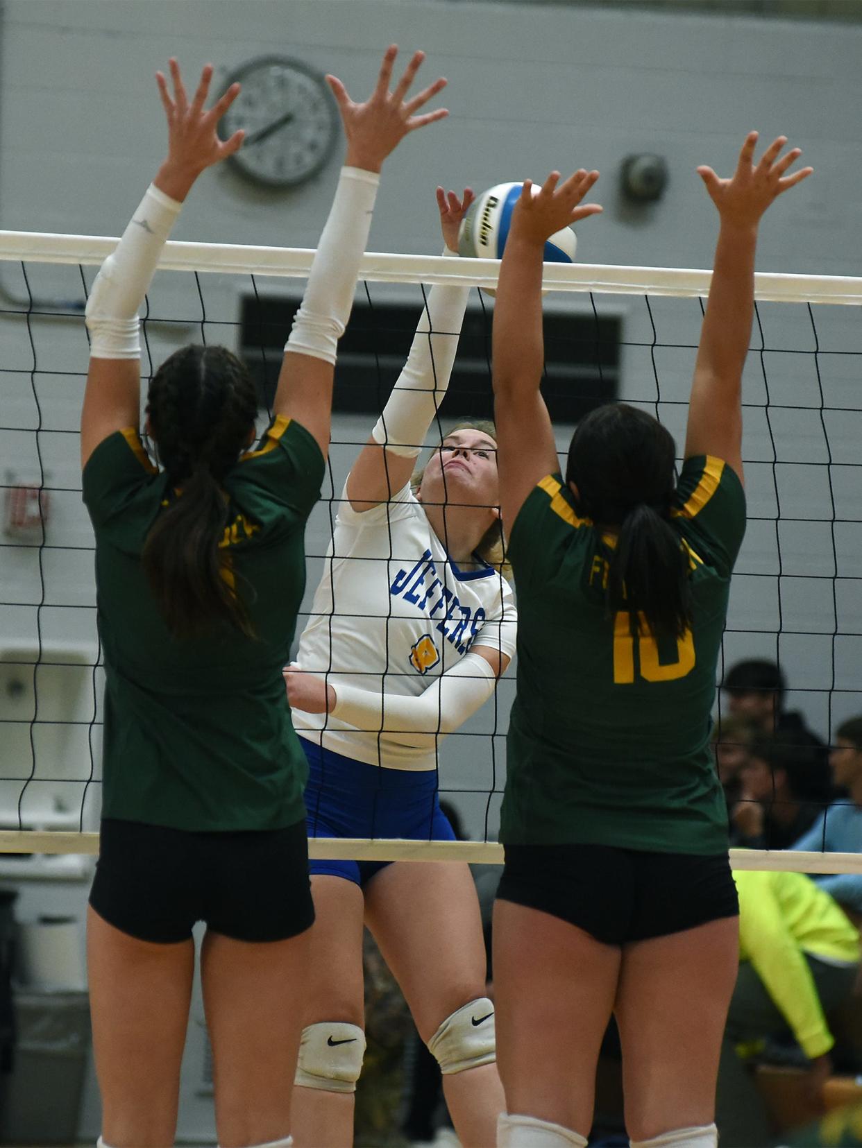
[[[177,638],[198,636],[218,621],[253,636],[220,542],[229,514],[221,482],[256,414],[254,383],[223,347],[183,347],[149,383],[149,428],[177,497],[151,527],[141,564]]]

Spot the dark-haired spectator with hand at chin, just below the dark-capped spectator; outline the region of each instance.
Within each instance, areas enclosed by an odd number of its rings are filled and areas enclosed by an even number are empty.
[[[830,799],[829,778],[805,735],[757,738],[740,777],[739,800],[730,813],[733,845],[788,850]]]

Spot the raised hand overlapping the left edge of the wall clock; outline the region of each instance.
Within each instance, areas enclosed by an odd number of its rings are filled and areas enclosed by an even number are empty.
[[[155,73],[159,94],[168,118],[168,157],[162,164],[156,186],[176,200],[183,200],[198,176],[213,164],[233,155],[243,144],[245,132],[234,132],[229,140],[216,133],[216,124],[239,95],[239,84],[232,84],[211,108],[205,109],[213,79],[213,65],[201,72],[198,90],[188,102],[179,64],[170,60],[174,95],[162,72]]]

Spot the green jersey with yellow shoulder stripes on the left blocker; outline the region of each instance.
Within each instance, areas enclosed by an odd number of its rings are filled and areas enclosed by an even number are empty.
[[[323,473],[315,440],[285,418],[239,459],[222,483],[220,546],[256,637],[220,623],[177,641],[140,556],[151,526],[182,494],[151,464],[134,429],[93,451],[83,486],[106,673],[102,816],[184,830],[282,829],[303,817],[306,760],[282,668]]]

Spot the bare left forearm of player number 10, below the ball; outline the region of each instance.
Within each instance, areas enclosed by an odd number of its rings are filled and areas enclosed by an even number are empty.
[[[541,327],[542,245],[513,230],[503,251],[494,304],[494,396],[539,389],[545,359]]]

